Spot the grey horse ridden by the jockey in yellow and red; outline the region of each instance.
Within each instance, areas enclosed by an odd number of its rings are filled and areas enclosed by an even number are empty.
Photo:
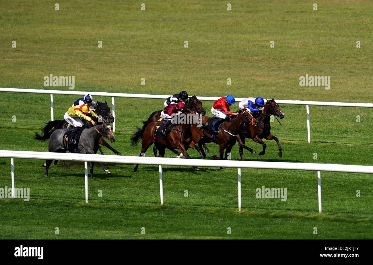
[[[110,142],[115,141],[115,136],[113,134],[113,128],[109,123],[97,123],[97,126],[91,127],[89,129],[84,129],[79,139],[78,151],[80,154],[96,154],[98,150],[97,141],[101,136],[109,139]],[[43,136],[35,133],[34,139],[39,141],[48,142],[48,151],[49,152],[59,152],[65,153],[66,150],[63,146],[62,138],[63,135],[68,131],[68,129],[56,129],[49,132],[45,132]],[[46,161],[46,174],[44,177],[48,177],[48,169],[53,160]],[[93,166],[94,162],[90,162],[90,174],[91,179],[93,179]]]

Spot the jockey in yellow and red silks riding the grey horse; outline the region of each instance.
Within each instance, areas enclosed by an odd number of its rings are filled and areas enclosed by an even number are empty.
[[[91,122],[93,125],[96,124],[94,120],[86,116],[84,113],[91,114],[94,117],[98,117],[96,113],[90,110],[90,107],[88,107],[87,104],[72,106],[65,113],[66,122],[68,122],[72,126],[75,126],[72,130],[69,144],[75,143],[76,133],[78,132],[79,128],[84,125],[81,119],[88,120],[88,122]]]

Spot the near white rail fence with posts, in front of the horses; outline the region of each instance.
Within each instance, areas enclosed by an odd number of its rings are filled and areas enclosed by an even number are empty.
[[[12,176],[12,198],[15,198],[14,181],[14,158],[26,159],[45,159],[45,160],[68,160],[83,161],[85,175],[85,202],[88,203],[88,163],[122,163],[122,164],[146,164],[159,165],[159,188],[160,201],[163,205],[163,170],[162,165],[173,166],[198,166],[198,167],[233,167],[238,168],[238,210],[241,211],[241,168],[265,168],[279,170],[308,170],[317,171],[317,193],[319,201],[319,213],[321,207],[321,171],[349,172],[349,173],[369,173],[373,174],[373,166],[367,165],[339,165],[339,164],[315,164],[315,163],[284,163],[284,162],[266,162],[266,161],[233,161],[233,160],[199,160],[199,159],[177,159],[177,158],[158,158],[158,157],[133,157],[116,155],[87,155],[87,154],[65,154],[49,152],[30,152],[30,151],[12,151],[0,150],[0,158],[10,158],[11,176]],[[140,169],[141,170],[141,169]],[[40,173],[42,176],[43,172]],[[53,173],[51,173],[53,174]]]

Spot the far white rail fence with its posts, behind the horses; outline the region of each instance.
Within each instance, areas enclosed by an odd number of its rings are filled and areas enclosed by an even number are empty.
[[[114,97],[122,98],[159,98],[166,99],[169,95],[150,95],[150,94],[127,94],[127,93],[110,93],[110,92],[89,92],[89,91],[63,91],[63,90],[48,90],[48,89],[26,89],[26,88],[0,88],[2,92],[21,92],[21,93],[37,93],[37,94],[50,94],[51,104],[51,119],[54,120],[53,111],[53,94],[60,95],[85,95],[91,94],[93,96],[112,97],[112,114],[115,117],[115,103]],[[220,97],[199,97],[199,100],[215,101]],[[244,98],[236,98],[236,101],[242,101]],[[292,104],[292,105],[306,105],[307,114],[307,139],[308,143],[311,142],[310,133],[310,111],[309,105],[317,106],[335,106],[335,107],[365,107],[373,108],[373,103],[351,103],[351,102],[326,102],[326,101],[303,101],[303,100],[276,100],[279,104]],[[115,120],[113,122],[113,131],[115,132]]]

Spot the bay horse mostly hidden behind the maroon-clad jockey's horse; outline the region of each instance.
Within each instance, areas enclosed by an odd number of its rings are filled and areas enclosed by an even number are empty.
[[[189,96],[189,101],[186,103],[185,108],[188,111],[197,111],[202,116],[206,115],[206,110],[204,110],[204,108],[202,107],[202,102],[198,100],[198,98],[195,95]],[[142,135],[144,134],[145,129],[148,126],[148,124],[150,124],[151,122],[157,122],[160,119],[161,113],[162,113],[162,110],[154,111],[152,114],[150,114],[147,120],[142,122],[144,124],[142,128],[137,127],[136,132],[131,136],[132,146],[137,145],[138,141],[141,139]],[[204,148],[206,152],[209,152],[209,149],[207,148],[206,144],[204,144]],[[167,147],[167,149],[170,149],[172,152],[178,155],[178,158],[183,156],[182,153],[176,151],[174,148]],[[157,146],[156,145],[154,145],[153,147],[153,152],[154,152],[154,157],[157,157]]]

